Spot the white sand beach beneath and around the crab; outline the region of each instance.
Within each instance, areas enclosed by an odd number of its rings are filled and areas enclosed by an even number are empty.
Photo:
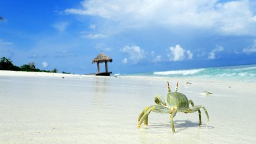
[[[138,130],[141,110],[155,94],[166,98],[166,81],[172,89],[179,81],[179,92],[206,107],[207,128],[203,111],[201,127],[198,113],[178,113],[173,134],[169,114],[152,112],[149,126]],[[192,78],[0,70],[0,143],[256,143],[255,89],[255,83]]]

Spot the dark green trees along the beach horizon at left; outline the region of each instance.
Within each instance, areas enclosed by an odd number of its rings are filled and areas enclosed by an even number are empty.
[[[35,67],[34,62],[29,62],[23,66],[16,66],[12,63],[10,59],[5,57],[1,58],[0,61],[0,70],[14,70],[14,71],[36,71],[36,72],[47,72],[47,73],[57,73],[58,69],[54,68],[53,70],[41,70]],[[63,72],[62,72],[63,73]]]

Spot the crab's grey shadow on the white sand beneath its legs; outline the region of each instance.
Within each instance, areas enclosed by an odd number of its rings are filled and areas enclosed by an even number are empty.
[[[214,128],[212,126],[206,126],[206,124],[202,124],[201,126],[198,126],[198,123],[194,123],[189,120],[174,121],[174,127],[181,128],[180,130],[187,129],[189,127],[201,127],[201,128],[207,128],[207,129]],[[170,122],[168,122],[168,124],[148,123],[148,127],[146,127],[145,129],[157,129],[157,128],[172,128],[172,126],[170,125]],[[178,130],[178,131],[180,131],[180,130]]]

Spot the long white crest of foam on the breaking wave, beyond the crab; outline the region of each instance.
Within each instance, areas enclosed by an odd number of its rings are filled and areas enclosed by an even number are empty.
[[[154,72],[154,75],[193,75],[198,73],[199,71],[204,70],[204,68],[200,69],[190,69],[190,70],[169,70],[169,71],[157,71]]]

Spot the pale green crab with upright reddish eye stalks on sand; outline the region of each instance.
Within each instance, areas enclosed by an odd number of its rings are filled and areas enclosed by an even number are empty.
[[[175,133],[174,128],[174,117],[177,112],[184,112],[184,113],[193,113],[198,111],[199,115],[199,126],[202,125],[201,121],[201,111],[200,109],[203,108],[204,112],[207,117],[207,123],[209,122],[209,115],[206,110],[206,108],[202,105],[194,106],[194,103],[192,100],[187,100],[187,97],[185,94],[177,92],[178,91],[178,84],[177,82],[175,92],[170,91],[169,82],[167,82],[168,86],[168,94],[167,94],[167,100],[165,101],[163,97],[159,94],[155,96],[155,103],[157,105],[151,105],[147,106],[144,110],[141,111],[139,117],[138,117],[138,128],[140,129],[141,124],[144,122],[144,124],[147,126],[148,124],[148,114],[150,114],[151,111],[156,113],[169,113],[170,115],[170,125],[172,125],[173,133]],[[189,107],[189,104],[191,104],[191,107]]]

